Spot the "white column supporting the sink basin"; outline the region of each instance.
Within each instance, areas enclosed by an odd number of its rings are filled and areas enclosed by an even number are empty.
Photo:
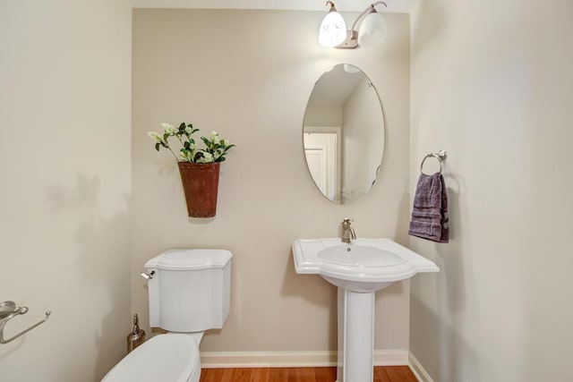
[[[374,292],[338,287],[337,382],[372,382]]]

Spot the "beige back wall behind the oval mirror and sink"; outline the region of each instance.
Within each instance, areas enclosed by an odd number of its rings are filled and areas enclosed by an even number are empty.
[[[147,259],[177,247],[231,250],[231,313],[202,351],[335,350],[336,289],[319,276],[295,275],[291,242],[337,236],[345,216],[354,217],[359,236],[407,242],[409,17],[389,14],[385,45],[347,51],[318,46],[321,16],[134,11],[133,310],[147,316],[147,289],[137,276]],[[351,206],[315,189],[301,134],[314,82],[340,63],[363,69],[386,113],[380,182]],[[222,166],[215,218],[186,216],[175,163],[146,135],[182,121],[237,145]],[[406,350],[409,284],[376,300],[376,348]]]

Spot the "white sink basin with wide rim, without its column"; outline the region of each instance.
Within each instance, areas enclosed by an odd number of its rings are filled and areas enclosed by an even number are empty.
[[[321,275],[354,292],[378,291],[420,272],[438,272],[432,261],[389,239],[311,239],[293,242],[296,273]]]

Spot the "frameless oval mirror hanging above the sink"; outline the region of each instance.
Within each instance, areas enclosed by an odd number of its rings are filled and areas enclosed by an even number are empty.
[[[372,81],[356,66],[338,64],[314,84],[304,112],[304,156],[327,199],[362,199],[382,163],[384,116]]]

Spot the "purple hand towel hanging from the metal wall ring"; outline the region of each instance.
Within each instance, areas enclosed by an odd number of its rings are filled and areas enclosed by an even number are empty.
[[[440,173],[420,174],[408,233],[432,242],[449,242],[448,195]]]

